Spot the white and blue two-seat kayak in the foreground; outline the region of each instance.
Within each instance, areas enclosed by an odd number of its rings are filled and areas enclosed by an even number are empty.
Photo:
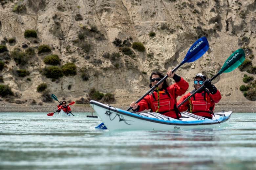
[[[169,131],[183,129],[220,128],[226,125],[232,114],[229,112],[214,113],[212,119],[182,112],[180,119],[171,118],[155,112],[128,112],[100,103],[90,101],[90,105],[110,131],[116,130],[153,130]]]

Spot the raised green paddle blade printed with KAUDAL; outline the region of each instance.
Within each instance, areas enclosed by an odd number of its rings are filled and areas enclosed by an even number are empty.
[[[238,66],[240,66],[245,60],[245,52],[242,48],[235,51],[231,54],[228,59],[225,61],[222,66],[220,72],[230,72],[235,70]]]

